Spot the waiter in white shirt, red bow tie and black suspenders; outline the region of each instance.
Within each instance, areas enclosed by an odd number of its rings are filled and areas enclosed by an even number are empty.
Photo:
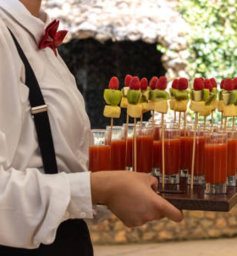
[[[155,178],[88,172],[89,119],[56,49],[66,32],[40,5],[0,0],[0,256],[92,256],[83,219],[109,210],[128,227],[181,221]]]

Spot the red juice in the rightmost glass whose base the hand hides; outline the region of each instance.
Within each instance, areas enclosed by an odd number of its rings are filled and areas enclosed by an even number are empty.
[[[137,172],[151,173],[153,165],[153,136],[137,136]]]

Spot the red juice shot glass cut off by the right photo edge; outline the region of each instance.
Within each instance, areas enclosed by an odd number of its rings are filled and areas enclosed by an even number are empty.
[[[237,129],[227,129],[227,185],[228,187],[236,186],[237,170]]]

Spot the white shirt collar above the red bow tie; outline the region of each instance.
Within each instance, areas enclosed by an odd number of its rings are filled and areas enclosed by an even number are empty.
[[[34,17],[19,0],[0,0],[0,8],[4,9],[16,22],[26,28],[38,44],[45,34],[49,16],[40,9],[38,18]]]

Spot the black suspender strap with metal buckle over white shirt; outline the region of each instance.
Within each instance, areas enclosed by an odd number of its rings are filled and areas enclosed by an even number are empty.
[[[20,47],[16,37],[12,34],[9,29],[9,32],[14,40],[14,43],[17,47],[18,54],[25,65],[26,71],[26,85],[29,88],[29,101],[31,105],[31,114],[33,116],[36,133],[38,137],[38,144],[43,160],[43,165],[46,174],[56,174],[57,163],[55,157],[55,148],[52,138],[47,105],[44,101],[42,92],[40,90],[39,84],[37,82],[34,71],[32,70],[26,55],[24,54],[22,48]]]

